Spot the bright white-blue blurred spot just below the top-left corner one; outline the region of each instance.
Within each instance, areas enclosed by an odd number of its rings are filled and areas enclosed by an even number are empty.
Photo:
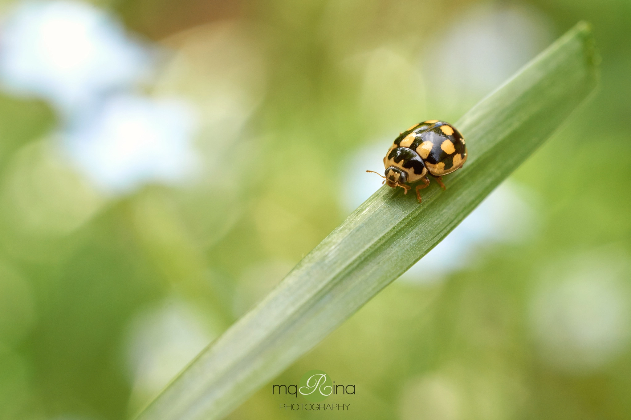
[[[196,167],[196,115],[187,103],[112,96],[68,133],[80,170],[105,191],[124,193],[152,181],[178,183]]]

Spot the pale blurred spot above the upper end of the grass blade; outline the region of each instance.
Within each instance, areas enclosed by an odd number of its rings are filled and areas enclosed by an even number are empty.
[[[430,100],[443,111],[464,111],[543,50],[553,33],[549,18],[532,6],[475,4],[441,25],[423,50]],[[457,57],[457,64],[427,59],[437,52]]]

